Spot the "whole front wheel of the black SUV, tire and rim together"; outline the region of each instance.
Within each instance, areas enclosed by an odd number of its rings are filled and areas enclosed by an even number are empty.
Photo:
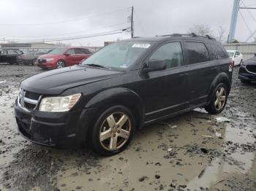
[[[127,107],[110,107],[99,115],[91,130],[92,149],[99,155],[116,155],[128,147],[134,130],[135,118]]]

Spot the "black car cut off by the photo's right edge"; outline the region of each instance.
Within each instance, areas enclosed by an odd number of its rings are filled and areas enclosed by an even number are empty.
[[[241,64],[238,78],[241,79],[241,82],[249,83],[256,80],[256,54],[254,57],[244,61]]]

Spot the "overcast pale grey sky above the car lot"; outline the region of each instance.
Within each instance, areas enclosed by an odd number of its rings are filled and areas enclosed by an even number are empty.
[[[244,5],[256,7],[256,1],[242,0],[241,6]],[[0,0],[0,43],[116,33],[129,28],[132,6],[135,36],[184,34],[194,25],[206,25],[211,27],[214,36],[221,26],[227,39],[233,0]],[[256,30],[256,9],[240,12],[235,38],[244,42]],[[105,41],[129,38],[129,31],[123,31],[61,42],[102,46]]]

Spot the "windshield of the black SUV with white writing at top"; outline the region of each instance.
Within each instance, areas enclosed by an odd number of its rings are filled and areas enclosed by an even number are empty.
[[[83,61],[114,69],[127,69],[151,46],[151,42],[117,42],[109,44]]]

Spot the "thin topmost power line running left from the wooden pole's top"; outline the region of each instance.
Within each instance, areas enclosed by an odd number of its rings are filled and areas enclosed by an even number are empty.
[[[69,22],[77,21],[77,20],[86,20],[86,19],[91,18],[91,17],[100,17],[100,16],[104,16],[104,15],[110,15],[110,14],[113,14],[113,13],[116,13],[116,12],[121,12],[121,11],[129,9],[129,8],[130,7],[127,7],[127,8],[124,8],[124,9],[117,9],[116,11],[113,11],[113,12],[105,12],[105,13],[102,13],[102,14],[99,14],[99,15],[92,15],[92,16],[89,16],[89,17],[79,17],[79,18],[77,17],[77,18],[70,19],[70,20],[62,20],[62,21],[52,22],[52,23],[0,24],[0,26],[45,26],[45,25],[55,25],[55,24],[58,24],[58,23],[69,23]]]

